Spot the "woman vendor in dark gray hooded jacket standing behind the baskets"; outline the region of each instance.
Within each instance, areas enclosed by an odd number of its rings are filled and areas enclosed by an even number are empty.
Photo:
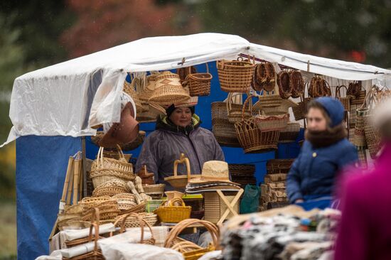
[[[224,153],[212,132],[200,127],[200,118],[194,114],[194,107],[166,109],[156,121],[156,131],[146,136],[137,158],[136,172],[142,166],[155,174],[156,183],[165,183],[166,190],[173,187],[164,178],[173,175],[173,162],[181,153],[189,159],[191,174],[200,174],[205,161],[224,161]],[[186,174],[186,166],[178,166],[178,175]]]

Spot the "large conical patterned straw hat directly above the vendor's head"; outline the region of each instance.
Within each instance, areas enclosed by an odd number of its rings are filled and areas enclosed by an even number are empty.
[[[186,102],[188,99],[190,99],[190,94],[182,87],[177,74],[165,71],[156,76],[155,89],[149,102],[176,104]]]

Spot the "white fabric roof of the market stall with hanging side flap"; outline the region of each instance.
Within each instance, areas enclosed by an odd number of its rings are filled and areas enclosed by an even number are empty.
[[[171,70],[232,59],[240,53],[345,80],[382,84],[391,77],[390,70],[379,67],[257,45],[234,35],[143,38],[16,78],[9,112],[14,126],[6,143],[27,135],[93,135],[91,126],[119,121],[119,97],[127,72]]]

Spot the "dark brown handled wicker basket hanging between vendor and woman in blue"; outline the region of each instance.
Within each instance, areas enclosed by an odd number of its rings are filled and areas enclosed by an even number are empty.
[[[245,104],[243,104],[243,111],[251,97],[247,97]],[[240,146],[245,150],[245,153],[277,149],[279,130],[261,131],[254,117],[250,119],[242,118],[242,121],[236,122],[235,130]]]

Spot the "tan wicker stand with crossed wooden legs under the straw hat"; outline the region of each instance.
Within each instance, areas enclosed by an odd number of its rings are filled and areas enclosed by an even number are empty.
[[[225,197],[227,197],[227,200],[229,202],[232,202],[235,195],[237,193],[234,192],[224,192]],[[221,200],[220,196],[217,193],[204,193],[204,208],[205,208],[205,215],[204,220],[207,220],[212,223],[217,223],[218,220],[220,220],[220,216],[223,215],[225,210],[227,210],[227,205]],[[233,207],[235,212],[239,213],[239,205],[240,201],[238,201],[235,206]],[[225,219],[228,220],[231,217],[233,217],[232,212],[226,217]]]

